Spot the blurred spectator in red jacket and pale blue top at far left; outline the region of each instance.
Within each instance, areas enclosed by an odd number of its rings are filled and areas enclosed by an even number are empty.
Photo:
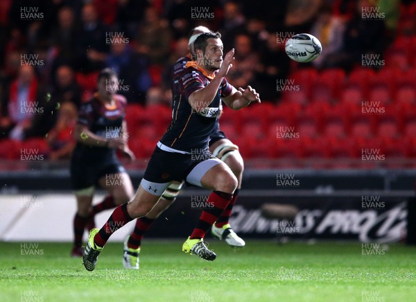
[[[37,78],[31,65],[21,65],[18,76],[12,81],[8,94],[8,116],[0,121],[1,132],[9,133],[14,140],[23,140],[26,131],[33,128],[33,117],[42,114],[43,108],[38,106]]]

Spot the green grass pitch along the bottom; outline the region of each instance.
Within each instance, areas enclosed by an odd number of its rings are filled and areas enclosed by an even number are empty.
[[[0,243],[0,301],[416,301],[416,248],[360,243],[209,240],[214,262],[182,253],[181,241],[146,240],[139,271],[110,243],[94,271],[70,244]]]

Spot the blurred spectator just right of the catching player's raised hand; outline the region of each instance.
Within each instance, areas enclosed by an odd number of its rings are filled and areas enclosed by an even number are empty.
[[[235,87],[247,87],[249,83],[253,83],[259,57],[257,53],[253,52],[252,42],[248,35],[237,35],[234,48],[236,60],[232,63],[232,68],[229,69],[227,79]]]

